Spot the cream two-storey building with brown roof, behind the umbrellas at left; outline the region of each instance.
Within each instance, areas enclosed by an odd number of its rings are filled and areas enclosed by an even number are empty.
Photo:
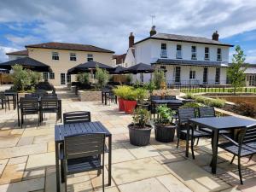
[[[26,45],[27,55],[41,61],[52,69],[52,73],[44,73],[44,79],[50,84],[64,85],[75,80],[75,75],[67,74],[67,70],[87,61],[97,61],[113,66],[113,51],[84,44],[45,43]],[[9,60],[15,52],[8,53]],[[16,59],[16,58],[15,58]]]

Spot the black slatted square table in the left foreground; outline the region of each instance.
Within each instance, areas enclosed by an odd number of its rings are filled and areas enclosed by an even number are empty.
[[[55,166],[57,192],[60,191],[60,144],[64,143],[64,137],[85,133],[105,133],[106,137],[108,137],[108,185],[111,185],[112,134],[108,131],[108,129],[99,121],[67,125],[55,125]]]

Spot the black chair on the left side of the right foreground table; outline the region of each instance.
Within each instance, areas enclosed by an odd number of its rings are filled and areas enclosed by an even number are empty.
[[[177,120],[177,148],[179,140],[181,138],[186,139],[187,137],[187,126],[189,126],[189,139],[191,140],[192,157],[195,159],[194,154],[194,143],[195,138],[198,137],[212,137],[212,133],[198,130],[195,125],[189,124],[188,120],[196,117],[195,108],[178,108],[177,109],[178,120]]]

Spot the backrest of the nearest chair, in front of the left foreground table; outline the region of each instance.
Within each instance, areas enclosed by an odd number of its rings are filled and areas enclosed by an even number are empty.
[[[70,160],[104,154],[104,146],[104,133],[90,133],[65,137],[65,159]]]

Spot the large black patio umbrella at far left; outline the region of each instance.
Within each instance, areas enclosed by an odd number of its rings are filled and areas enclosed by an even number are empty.
[[[20,65],[23,68],[30,69],[36,72],[52,72],[51,68],[43,62],[34,60],[30,57],[23,57],[20,59],[6,61],[0,63],[0,68],[11,70],[13,66]]]

